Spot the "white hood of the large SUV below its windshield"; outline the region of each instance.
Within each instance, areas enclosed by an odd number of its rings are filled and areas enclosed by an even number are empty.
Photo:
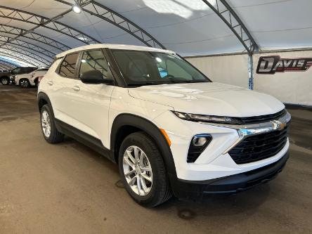
[[[285,108],[267,94],[216,82],[141,86],[129,89],[129,95],[179,112],[202,115],[249,117]]]

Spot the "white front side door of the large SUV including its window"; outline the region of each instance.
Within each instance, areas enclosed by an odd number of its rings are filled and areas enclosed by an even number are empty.
[[[78,77],[90,70],[99,70],[103,79],[112,79],[112,74],[102,50],[82,52],[79,58]],[[108,148],[108,111],[110,98],[115,86],[107,84],[84,84],[80,79],[74,80],[71,96],[74,97],[72,108],[75,110],[72,125],[102,141]]]

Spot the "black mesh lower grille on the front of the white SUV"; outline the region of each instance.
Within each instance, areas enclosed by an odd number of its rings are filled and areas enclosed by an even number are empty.
[[[270,131],[265,134],[247,136],[235,145],[228,154],[236,164],[244,164],[264,160],[276,155],[287,142],[287,129]]]

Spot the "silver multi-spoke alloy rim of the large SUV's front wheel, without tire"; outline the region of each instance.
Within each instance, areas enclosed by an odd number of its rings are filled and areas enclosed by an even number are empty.
[[[145,152],[136,145],[129,146],[123,157],[124,177],[131,190],[146,196],[152,188],[152,167]]]

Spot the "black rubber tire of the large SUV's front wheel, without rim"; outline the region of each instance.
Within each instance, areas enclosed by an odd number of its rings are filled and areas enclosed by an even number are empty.
[[[134,190],[131,189],[124,176],[124,152],[131,145],[138,146],[143,152],[145,152],[145,155],[150,162],[150,167],[152,167],[152,187],[150,188],[150,192],[145,196],[134,193]],[[164,160],[162,160],[160,150],[158,150],[155,142],[150,136],[142,131],[126,136],[120,146],[118,162],[119,173],[122,177],[124,188],[126,188],[126,191],[138,204],[141,204],[144,207],[156,207],[170,199],[172,192]]]

